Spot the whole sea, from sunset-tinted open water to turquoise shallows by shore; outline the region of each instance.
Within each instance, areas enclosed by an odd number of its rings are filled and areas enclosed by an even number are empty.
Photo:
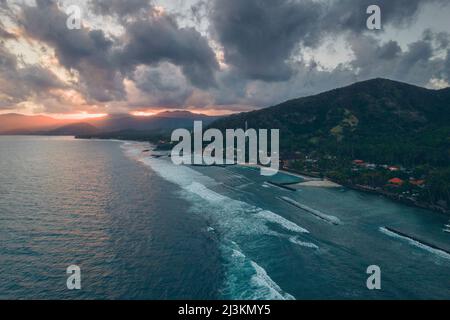
[[[282,190],[250,168],[175,167],[144,149],[0,137],[0,298],[450,298],[450,256],[380,230],[450,249],[448,217],[344,188]],[[66,289],[71,264],[80,291]],[[380,291],[366,288],[369,265]]]

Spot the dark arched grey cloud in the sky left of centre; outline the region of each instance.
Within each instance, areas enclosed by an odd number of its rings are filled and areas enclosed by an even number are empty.
[[[118,59],[125,68],[170,62],[199,88],[215,85],[219,65],[208,41],[193,28],[179,28],[174,19],[157,16],[126,26],[125,45]]]

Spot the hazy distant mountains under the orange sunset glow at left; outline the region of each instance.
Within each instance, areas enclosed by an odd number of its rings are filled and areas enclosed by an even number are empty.
[[[118,114],[82,121],[54,119],[48,116],[4,114],[0,115],[0,134],[79,136],[130,130],[164,133],[176,128],[190,128],[194,120],[201,120],[205,124],[210,124],[218,118],[188,111],[167,111],[148,117]]]

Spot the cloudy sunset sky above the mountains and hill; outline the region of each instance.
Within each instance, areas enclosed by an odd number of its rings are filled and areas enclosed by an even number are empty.
[[[375,77],[449,86],[450,1],[0,0],[0,113],[225,114]]]

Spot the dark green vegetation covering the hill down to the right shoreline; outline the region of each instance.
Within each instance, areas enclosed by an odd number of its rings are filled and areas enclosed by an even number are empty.
[[[212,127],[244,128],[245,122],[280,129],[281,157],[290,169],[449,208],[450,89],[375,79],[233,115]],[[403,183],[390,183],[393,178]]]

